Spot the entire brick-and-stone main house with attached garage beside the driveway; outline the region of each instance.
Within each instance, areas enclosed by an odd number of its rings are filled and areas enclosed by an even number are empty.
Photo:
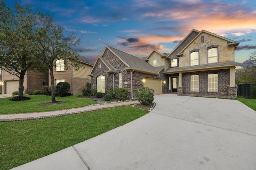
[[[234,98],[238,44],[192,29],[170,54],[152,50],[144,60],[106,46],[90,72],[92,88],[105,93],[110,88],[126,88],[132,99],[143,86],[153,88],[154,94]]]

